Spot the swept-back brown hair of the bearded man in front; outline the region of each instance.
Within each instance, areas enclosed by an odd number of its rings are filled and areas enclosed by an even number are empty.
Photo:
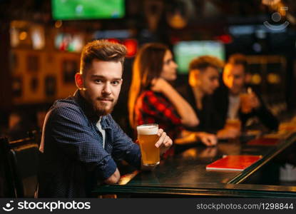
[[[80,73],[85,73],[91,67],[93,59],[100,61],[123,61],[126,56],[126,46],[107,40],[91,41],[83,47],[81,53]]]

